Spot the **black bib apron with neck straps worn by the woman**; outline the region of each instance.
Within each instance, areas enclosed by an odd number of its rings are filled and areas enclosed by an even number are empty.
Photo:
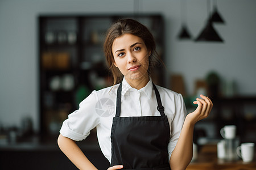
[[[123,165],[123,169],[171,169],[167,150],[170,126],[154,83],[153,87],[161,116],[119,117],[122,92],[122,82],[120,83],[111,131],[111,167]]]

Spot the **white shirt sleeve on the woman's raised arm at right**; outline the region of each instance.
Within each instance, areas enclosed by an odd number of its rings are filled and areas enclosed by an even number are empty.
[[[168,143],[169,160],[171,158],[172,151],[174,151],[174,148],[180,137],[180,132],[184,124],[186,115],[187,110],[185,108],[183,97],[181,96],[181,94],[178,94],[177,98],[175,99],[175,116],[171,122],[171,135],[170,142]]]

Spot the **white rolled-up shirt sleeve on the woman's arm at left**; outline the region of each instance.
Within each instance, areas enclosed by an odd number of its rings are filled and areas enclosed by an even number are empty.
[[[69,114],[61,126],[60,134],[74,141],[82,141],[88,137],[90,130],[99,124],[99,117],[95,109],[97,101],[96,91],[93,91],[81,101],[78,110]]]

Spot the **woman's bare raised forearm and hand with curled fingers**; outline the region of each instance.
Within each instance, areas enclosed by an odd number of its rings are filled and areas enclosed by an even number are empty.
[[[193,102],[198,105],[196,110],[189,113],[185,118],[179,140],[177,141],[177,145],[170,158],[170,166],[172,170],[183,170],[187,168],[193,156],[194,126],[197,121],[208,117],[212,110],[212,101],[206,96],[201,95],[201,97],[202,99],[197,98],[196,101]]]

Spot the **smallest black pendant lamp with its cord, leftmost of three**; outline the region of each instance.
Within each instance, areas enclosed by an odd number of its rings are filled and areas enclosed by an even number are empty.
[[[187,28],[187,14],[186,14],[186,11],[187,11],[187,5],[186,5],[186,0],[181,0],[181,20],[182,20],[182,24],[181,24],[181,29],[180,29],[180,32],[179,32],[179,35],[178,35],[178,39],[180,40],[189,40],[191,39],[191,35],[188,31],[188,28]]]

